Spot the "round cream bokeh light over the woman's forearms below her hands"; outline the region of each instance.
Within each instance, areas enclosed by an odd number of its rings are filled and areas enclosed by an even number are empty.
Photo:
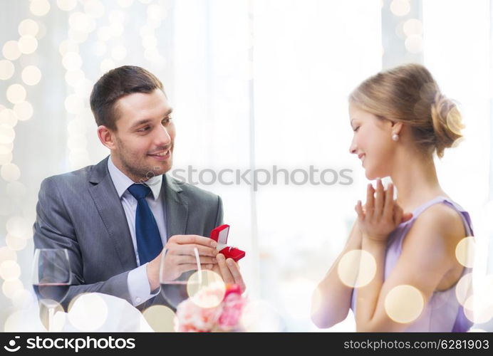
[[[337,266],[337,273],[341,282],[353,288],[359,288],[370,283],[375,277],[376,271],[375,258],[365,250],[346,252]]]

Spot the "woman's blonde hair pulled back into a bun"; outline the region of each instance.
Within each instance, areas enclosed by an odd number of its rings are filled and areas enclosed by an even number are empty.
[[[457,105],[442,95],[431,73],[419,64],[380,72],[353,90],[349,100],[361,110],[411,128],[415,143],[425,153],[443,156],[462,137]]]

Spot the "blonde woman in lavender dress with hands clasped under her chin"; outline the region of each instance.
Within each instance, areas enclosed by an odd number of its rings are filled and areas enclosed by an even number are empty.
[[[361,83],[350,95],[349,115],[350,152],[377,183],[368,184],[365,205],[356,204],[358,219],[346,246],[314,293],[313,323],[329,328],[351,308],[358,331],[467,331],[472,323],[455,286],[470,268],[457,261],[455,250],[472,236],[472,226],[440,187],[433,161],[435,152],[442,157],[462,137],[455,103],[426,68],[409,64]],[[382,177],[393,184],[385,189]],[[372,267],[375,273],[358,288],[338,273],[351,250],[373,256],[361,253],[373,263],[360,259],[368,263],[360,273]]]

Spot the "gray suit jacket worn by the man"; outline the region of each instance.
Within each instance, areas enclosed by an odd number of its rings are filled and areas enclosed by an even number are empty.
[[[108,172],[108,157],[41,183],[34,223],[36,248],[67,248],[72,285],[62,305],[80,293],[115,295],[131,303],[128,272],[137,267],[123,206]],[[177,234],[209,236],[222,224],[221,198],[163,176],[167,239]],[[139,306],[166,304],[162,295]]]

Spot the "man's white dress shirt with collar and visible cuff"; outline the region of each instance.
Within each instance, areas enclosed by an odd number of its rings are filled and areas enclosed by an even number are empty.
[[[137,238],[135,236],[135,212],[137,211],[137,199],[128,192],[133,182],[132,179],[127,177],[118,167],[113,163],[111,156],[108,159],[108,170],[110,171],[110,177],[115,185],[116,192],[125,211],[125,217],[127,218],[128,228],[130,229],[130,235],[132,236],[133,249],[135,251],[135,259],[137,260],[137,268],[134,268],[128,273],[127,284],[130,298],[134,306],[144,303],[146,300],[152,298],[159,293],[159,289],[155,293],[151,293],[149,280],[147,278],[147,263],[140,265],[139,253],[137,251]],[[157,177],[151,177],[146,182],[152,192],[145,200],[154,215],[157,223],[157,229],[159,229],[162,246],[166,244],[166,221],[165,221],[165,209],[163,208],[163,195],[161,192],[162,175]]]

